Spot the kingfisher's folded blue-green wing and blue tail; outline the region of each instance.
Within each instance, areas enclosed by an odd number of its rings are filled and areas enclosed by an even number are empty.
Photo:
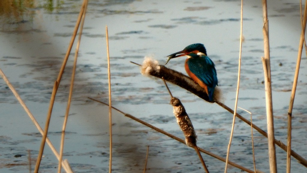
[[[218,85],[215,65],[207,56],[189,54],[188,67],[204,84],[207,85],[209,99],[212,100],[214,88]]]

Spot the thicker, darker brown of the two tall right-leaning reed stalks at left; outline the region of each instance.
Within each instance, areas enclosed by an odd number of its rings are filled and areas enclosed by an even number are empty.
[[[81,17],[82,17],[82,14],[84,13],[84,9],[85,9],[86,4],[87,4],[87,0],[84,0],[83,3],[82,3],[82,6],[81,6],[80,12],[79,12],[79,16],[78,16],[78,19],[77,19],[77,22],[76,22],[74,32],[72,34],[72,38],[71,38],[70,43],[68,45],[68,50],[66,52],[66,55],[64,57],[64,61],[62,63],[60,72],[59,72],[58,77],[57,77],[56,82],[55,82],[56,86],[53,87],[53,90],[55,90],[54,95],[56,94],[57,89],[60,85],[60,81],[61,81],[62,75],[64,73],[64,69],[65,69],[70,51],[72,49],[72,45],[75,41],[76,34],[77,34],[77,31],[78,31],[78,28],[79,28],[79,25],[80,25]],[[47,118],[46,118],[46,123],[45,123],[45,130],[44,130],[44,133],[43,133],[40,150],[39,150],[39,153],[38,153],[38,156],[37,156],[37,162],[36,162],[36,165],[35,165],[34,173],[38,172],[39,166],[41,164],[41,157],[42,157],[43,152],[44,152],[46,137],[47,137],[48,128],[49,128],[50,117],[51,117],[52,108],[53,108],[53,104],[54,104],[54,97],[55,96],[51,96],[51,99],[50,99],[49,110],[48,110],[48,113],[47,113]]]

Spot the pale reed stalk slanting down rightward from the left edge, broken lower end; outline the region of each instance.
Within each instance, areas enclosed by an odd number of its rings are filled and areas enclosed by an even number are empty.
[[[38,124],[37,120],[35,119],[35,117],[33,116],[33,114],[31,113],[31,111],[29,110],[29,108],[26,106],[25,102],[21,99],[21,97],[19,96],[18,92],[15,90],[15,88],[13,87],[13,85],[10,83],[10,81],[8,80],[8,78],[6,77],[6,75],[3,73],[3,71],[0,69],[0,76],[2,77],[2,79],[6,82],[6,85],[10,88],[10,90],[13,92],[14,96],[16,97],[16,99],[18,100],[18,102],[20,103],[20,105],[22,106],[22,108],[25,110],[25,112],[28,114],[29,118],[32,120],[33,124],[35,125],[35,127],[37,128],[37,130],[41,133],[41,135],[44,134],[43,129],[41,128],[41,126]],[[56,83],[56,82],[55,82]],[[46,142],[49,145],[51,151],[54,153],[54,155],[56,156],[57,159],[59,159],[59,153],[56,151],[55,147],[52,145],[51,141],[49,140],[49,138],[46,138]],[[69,166],[69,164],[67,163],[62,163],[64,165],[64,169],[67,173],[72,173],[72,169]]]

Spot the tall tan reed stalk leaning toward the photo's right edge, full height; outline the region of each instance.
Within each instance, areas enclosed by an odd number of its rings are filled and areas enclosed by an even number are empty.
[[[306,1],[307,2],[307,1]],[[300,6],[301,6],[300,1]],[[289,109],[288,109],[288,137],[287,137],[287,173],[291,172],[291,133],[292,133],[292,110],[293,110],[293,104],[294,104],[294,97],[297,87],[297,79],[298,74],[300,70],[300,64],[301,64],[301,57],[302,57],[302,51],[303,51],[303,45],[305,41],[305,29],[306,29],[306,20],[307,20],[307,4],[305,3],[305,10],[304,10],[304,20],[302,19],[301,15],[301,24],[302,24],[302,31],[301,31],[301,37],[300,37],[300,43],[298,46],[298,53],[297,53],[297,63],[296,63],[296,69],[294,73],[294,79],[293,79],[293,85],[292,85],[292,91],[290,96],[290,103],[289,103]]]

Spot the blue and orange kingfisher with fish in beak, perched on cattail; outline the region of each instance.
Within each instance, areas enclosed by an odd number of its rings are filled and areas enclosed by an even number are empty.
[[[217,75],[215,65],[207,56],[204,45],[200,43],[188,45],[185,49],[167,56],[166,64],[170,59],[181,56],[187,56],[185,71],[198,85],[204,88],[209,101],[212,102],[214,88],[217,86]]]

